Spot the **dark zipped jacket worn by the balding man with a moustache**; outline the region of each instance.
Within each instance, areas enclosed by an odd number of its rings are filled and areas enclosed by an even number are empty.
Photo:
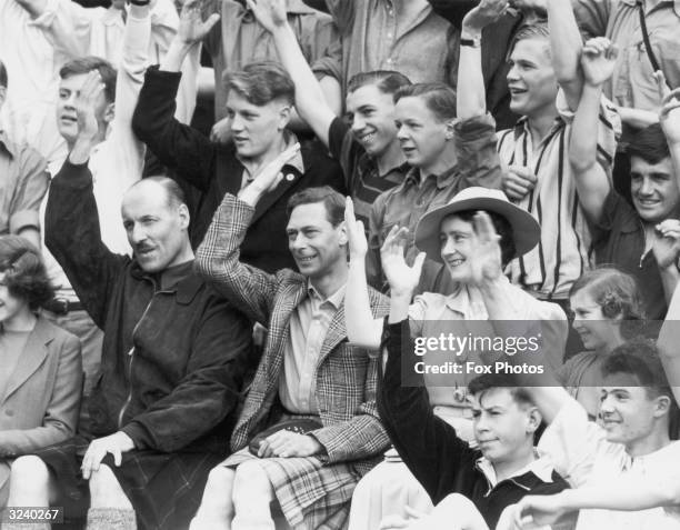
[[[138,449],[223,451],[251,361],[248,320],[192,272],[160,289],[101,242],[92,176],[67,161],[52,180],[46,243],[104,331],[90,399],[97,437],[122,430]]]

